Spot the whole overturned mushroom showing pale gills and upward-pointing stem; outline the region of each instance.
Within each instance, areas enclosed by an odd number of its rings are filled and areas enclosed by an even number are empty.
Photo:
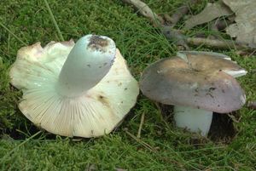
[[[20,48],[11,83],[22,90],[20,111],[53,134],[109,134],[137,101],[138,83],[109,37]]]

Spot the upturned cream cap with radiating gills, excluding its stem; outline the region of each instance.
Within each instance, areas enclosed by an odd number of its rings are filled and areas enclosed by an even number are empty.
[[[139,88],[125,59],[116,49],[107,75],[79,97],[58,94],[56,83],[67,55],[69,42],[40,43],[20,48],[10,69],[11,83],[22,89],[20,111],[50,133],[64,136],[97,137],[110,133],[137,101]],[[75,66],[74,66],[75,67]]]

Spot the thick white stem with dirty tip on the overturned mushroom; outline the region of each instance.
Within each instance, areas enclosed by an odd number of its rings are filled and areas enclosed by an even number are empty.
[[[104,36],[87,35],[74,45],[61,69],[56,89],[76,97],[99,83],[113,65],[115,44]]]

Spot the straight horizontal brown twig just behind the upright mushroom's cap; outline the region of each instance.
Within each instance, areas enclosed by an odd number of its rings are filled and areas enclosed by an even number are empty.
[[[218,39],[209,39],[202,37],[189,37],[187,38],[187,43],[194,46],[210,46],[213,48],[236,48],[236,49],[248,49],[247,46],[237,44],[230,40],[218,40]]]

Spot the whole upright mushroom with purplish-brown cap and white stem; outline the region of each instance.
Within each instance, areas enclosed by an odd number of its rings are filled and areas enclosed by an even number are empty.
[[[224,54],[182,51],[148,66],[140,88],[149,99],[174,105],[178,128],[207,136],[213,111],[229,113],[245,104],[246,95],[234,77],[246,73]]]

